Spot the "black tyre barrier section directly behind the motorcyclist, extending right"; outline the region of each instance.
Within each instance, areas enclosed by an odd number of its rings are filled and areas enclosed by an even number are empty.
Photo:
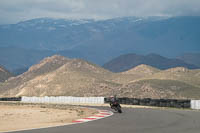
[[[157,107],[174,107],[174,108],[190,108],[190,100],[177,99],[151,99],[151,98],[118,98],[120,104],[127,105],[143,105],[143,106],[157,106]],[[109,98],[105,98],[105,103],[109,103]],[[200,103],[200,102],[199,102]],[[200,107],[200,104],[199,104]]]

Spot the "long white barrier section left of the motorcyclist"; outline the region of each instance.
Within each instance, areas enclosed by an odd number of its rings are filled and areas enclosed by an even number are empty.
[[[22,102],[104,104],[104,97],[22,97]]]

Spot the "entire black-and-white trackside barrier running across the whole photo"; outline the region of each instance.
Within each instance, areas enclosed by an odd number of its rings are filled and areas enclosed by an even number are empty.
[[[83,103],[83,104],[104,104],[109,98],[104,97],[9,97],[0,98],[0,101],[22,101],[27,103]],[[120,104],[143,105],[157,107],[191,108],[200,109],[200,100],[177,100],[177,99],[139,99],[139,98],[118,98]]]

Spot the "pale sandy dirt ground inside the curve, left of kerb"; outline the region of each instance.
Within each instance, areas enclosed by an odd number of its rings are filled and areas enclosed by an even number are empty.
[[[71,105],[0,102],[0,132],[67,125],[95,113],[95,109]]]

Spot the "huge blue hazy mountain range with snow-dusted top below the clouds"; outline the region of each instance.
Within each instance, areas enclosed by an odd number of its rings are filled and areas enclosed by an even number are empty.
[[[39,18],[0,25],[0,62],[10,71],[21,71],[54,54],[98,65],[127,53],[175,58],[199,52],[199,35],[199,16],[99,21]],[[192,64],[191,57],[180,58]]]

